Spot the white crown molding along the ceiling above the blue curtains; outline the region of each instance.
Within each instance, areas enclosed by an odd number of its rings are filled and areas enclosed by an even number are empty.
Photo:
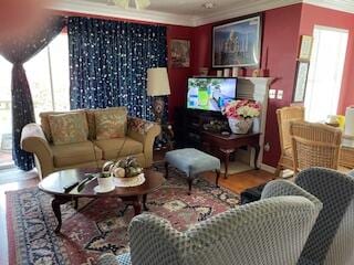
[[[192,15],[180,15],[167,12],[157,12],[150,10],[123,9],[119,7],[88,2],[84,0],[60,0],[54,1],[48,7],[50,10],[74,12],[83,14],[95,14],[102,17],[138,20],[152,23],[176,24],[192,26],[190,21],[195,18]]]

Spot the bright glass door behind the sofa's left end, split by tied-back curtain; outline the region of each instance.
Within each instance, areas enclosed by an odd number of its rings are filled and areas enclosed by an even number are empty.
[[[41,112],[70,108],[66,34],[58,35],[24,64],[24,70],[38,123]],[[0,168],[12,165],[11,71],[12,64],[0,56]]]

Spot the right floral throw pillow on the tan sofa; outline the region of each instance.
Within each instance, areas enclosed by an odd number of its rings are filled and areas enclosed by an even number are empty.
[[[126,113],[118,110],[95,113],[96,139],[105,140],[125,137],[126,119]]]

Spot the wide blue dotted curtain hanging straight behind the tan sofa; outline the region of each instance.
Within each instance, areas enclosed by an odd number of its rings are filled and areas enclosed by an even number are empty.
[[[154,120],[146,71],[166,66],[166,28],[70,18],[67,32],[71,108],[126,106]]]

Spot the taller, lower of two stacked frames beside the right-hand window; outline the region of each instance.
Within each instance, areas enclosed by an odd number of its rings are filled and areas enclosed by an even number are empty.
[[[298,62],[295,89],[292,99],[294,103],[303,103],[305,99],[309,66],[309,62]]]

